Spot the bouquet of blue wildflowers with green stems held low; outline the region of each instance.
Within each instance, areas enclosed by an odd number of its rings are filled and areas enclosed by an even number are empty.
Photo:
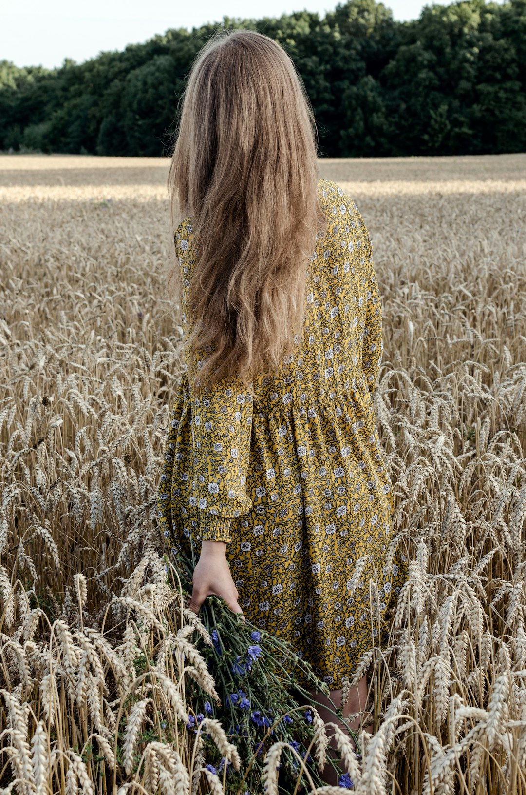
[[[192,564],[186,561],[179,571],[183,595],[192,590]],[[212,643],[198,634],[194,646],[206,662],[216,684],[221,704],[210,699],[197,681],[186,686],[186,703],[191,705],[186,731],[199,731],[205,718],[217,719],[240,755],[236,770],[221,756],[217,745],[200,731],[205,743],[207,769],[220,776],[228,795],[260,795],[265,791],[264,766],[268,750],[275,743],[285,743],[279,754],[278,793],[312,792],[321,787],[317,762],[335,765],[329,754],[321,753],[328,739],[324,724],[317,715],[313,696],[298,681],[308,682],[316,691],[329,696],[328,685],[318,679],[309,663],[298,657],[289,642],[258,629],[240,614],[233,613],[223,599],[209,596],[199,615]],[[303,696],[300,705],[294,695]],[[313,708],[309,708],[308,704]],[[341,709],[334,710],[341,719]],[[205,724],[204,724],[205,725]],[[357,750],[359,745],[353,732]],[[336,765],[335,765],[336,766]],[[340,774],[340,786],[351,789],[347,773]]]

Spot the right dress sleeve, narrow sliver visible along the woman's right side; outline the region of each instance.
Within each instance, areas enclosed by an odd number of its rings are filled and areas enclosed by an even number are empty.
[[[359,213],[358,213],[359,215]],[[361,215],[359,222],[362,225],[363,245],[365,245],[365,317],[363,324],[362,343],[362,370],[371,394],[374,392],[378,381],[378,372],[382,363],[382,304],[378,292],[378,281],[374,272],[372,244],[367,228]]]

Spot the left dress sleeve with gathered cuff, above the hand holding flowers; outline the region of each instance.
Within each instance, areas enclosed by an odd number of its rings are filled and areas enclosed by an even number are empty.
[[[176,248],[179,248],[177,242]],[[181,254],[184,254],[184,246]],[[182,303],[182,328],[186,333],[184,284]],[[237,377],[222,378],[206,385],[200,394],[194,394],[193,376],[196,369],[200,369],[205,353],[198,351],[197,358],[192,362],[191,373],[189,354],[189,346],[185,346],[186,374],[192,376],[188,378],[194,464],[193,496],[190,504],[199,509],[198,539],[230,543],[232,518],[248,513],[252,506],[246,484],[253,400],[241,379]]]

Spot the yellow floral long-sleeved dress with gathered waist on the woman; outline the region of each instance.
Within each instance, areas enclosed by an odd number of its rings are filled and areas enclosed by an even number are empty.
[[[393,495],[371,400],[382,359],[371,240],[335,182],[318,192],[328,228],[306,268],[302,339],[279,374],[255,379],[257,401],[240,379],[194,396],[186,359],[157,517],[175,558],[191,556],[190,541],[196,560],[202,539],[226,541],[244,615],[336,689],[381,645],[403,572],[386,564]],[[189,216],[175,231],[183,328],[192,238]]]

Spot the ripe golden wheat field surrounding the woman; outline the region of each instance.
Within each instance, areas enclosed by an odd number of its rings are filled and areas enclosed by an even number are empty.
[[[3,793],[223,792],[176,731],[187,677],[215,683],[154,518],[181,368],[168,165],[0,157]],[[526,155],[319,171],[373,241],[374,407],[409,558],[355,792],[524,795]]]

